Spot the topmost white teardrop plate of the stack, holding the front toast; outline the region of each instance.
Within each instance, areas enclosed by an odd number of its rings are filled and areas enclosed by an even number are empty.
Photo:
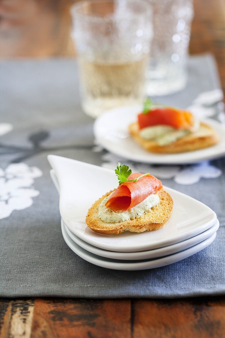
[[[173,198],[174,209],[163,228],[144,233],[97,234],[87,226],[85,218],[95,200],[118,186],[114,171],[56,155],[48,159],[58,179],[61,218],[72,233],[98,248],[119,252],[157,249],[199,235],[217,220],[215,212],[205,204],[164,187]]]

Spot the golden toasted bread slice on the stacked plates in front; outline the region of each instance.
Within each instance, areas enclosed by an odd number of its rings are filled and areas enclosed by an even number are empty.
[[[106,235],[118,235],[124,231],[144,232],[148,230],[158,230],[162,228],[169,220],[173,211],[173,199],[165,190],[159,192],[160,202],[157,206],[151,208],[144,216],[130,221],[119,223],[106,223],[98,217],[99,204],[109,196],[114,190],[103,195],[94,202],[88,210],[86,223],[91,230]]]

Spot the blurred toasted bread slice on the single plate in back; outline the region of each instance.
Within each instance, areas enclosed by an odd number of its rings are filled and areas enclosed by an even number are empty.
[[[129,126],[129,131],[143,148],[155,153],[178,153],[203,149],[219,142],[219,137],[214,129],[205,123],[200,124],[198,131],[164,146],[158,145],[156,141],[148,141],[141,138],[139,136],[139,126],[137,122]]]

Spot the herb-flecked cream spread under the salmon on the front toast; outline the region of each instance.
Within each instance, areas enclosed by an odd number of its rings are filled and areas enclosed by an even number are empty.
[[[119,223],[123,221],[133,220],[135,218],[140,218],[144,214],[146,214],[152,207],[155,207],[160,201],[158,194],[152,194],[131,209],[121,212],[115,212],[106,208],[105,206],[106,201],[110,196],[111,194],[102,200],[98,210],[98,217],[106,223]]]

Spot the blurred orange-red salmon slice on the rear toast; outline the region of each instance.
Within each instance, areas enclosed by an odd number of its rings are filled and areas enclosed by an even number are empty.
[[[194,124],[194,117],[190,112],[169,107],[152,108],[147,114],[138,115],[139,128],[154,125],[168,125],[173,128],[190,129]]]

